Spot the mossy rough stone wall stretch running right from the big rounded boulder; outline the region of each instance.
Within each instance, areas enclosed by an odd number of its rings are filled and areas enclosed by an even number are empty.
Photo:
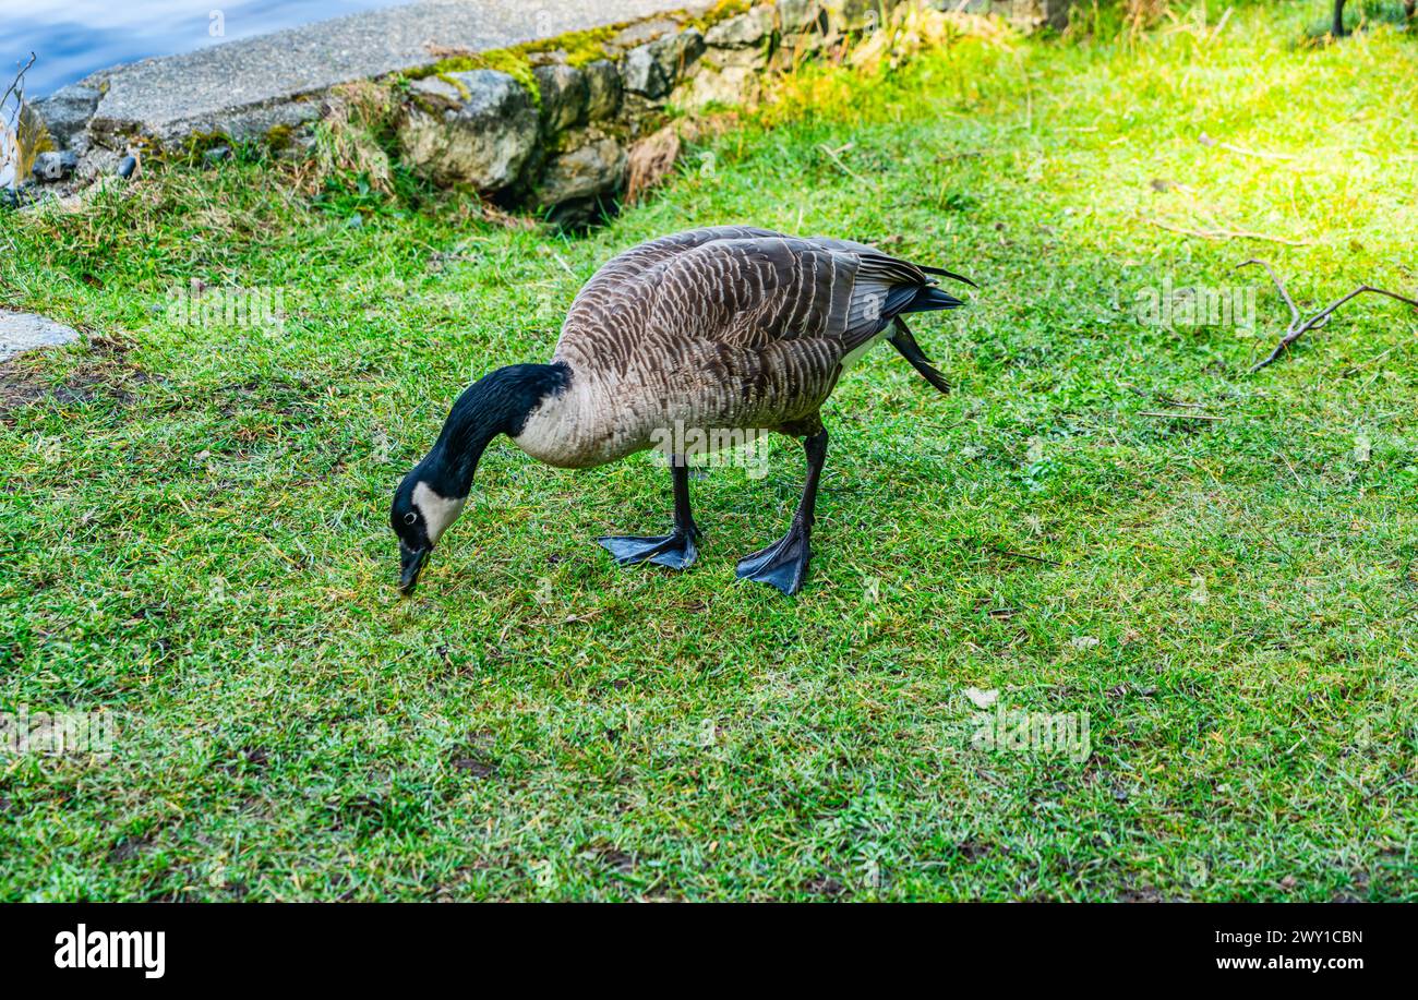
[[[406,162],[442,186],[583,224],[625,190],[640,160],[666,157],[668,111],[752,104],[774,72],[844,54],[882,31],[888,44],[944,34],[959,0],[777,0],[720,4],[709,17],[662,17],[567,47],[515,52],[529,74],[448,60],[414,79],[400,111]],[[976,0],[1024,28],[1065,10],[1058,0]],[[489,64],[496,60],[488,60]],[[520,77],[520,79],[519,79]]]

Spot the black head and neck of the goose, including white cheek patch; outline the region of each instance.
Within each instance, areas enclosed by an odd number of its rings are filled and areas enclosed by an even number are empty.
[[[492,438],[520,433],[542,400],[567,384],[566,365],[510,365],[462,391],[432,450],[394,491],[389,523],[398,538],[400,593],[414,591],[434,546],[462,513]]]

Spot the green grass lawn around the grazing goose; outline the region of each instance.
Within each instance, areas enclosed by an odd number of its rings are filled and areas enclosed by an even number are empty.
[[[0,708],[119,719],[0,760],[0,898],[1418,898],[1418,315],[1357,299],[1251,376],[1286,315],[1232,270],[1418,288],[1418,38],[1316,18],[805,74],[584,238],[250,163],[0,221],[0,301],[91,333],[4,374]],[[593,542],[668,523],[662,470],[503,443],[400,600],[389,498],[459,387],[729,221],[981,284],[916,325],[951,396],[882,349],[832,399],[804,593],[733,579],[795,444],[692,484],[672,574]],[[193,277],[284,288],[284,332],[169,322]],[[1164,279],[1256,287],[1259,328],[1140,322]],[[1224,420],[1143,416],[1183,403]],[[1090,756],[973,745],[970,687],[1088,713]]]

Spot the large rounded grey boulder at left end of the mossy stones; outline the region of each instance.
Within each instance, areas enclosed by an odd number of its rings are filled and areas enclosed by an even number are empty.
[[[495,70],[414,81],[398,142],[404,156],[438,184],[495,191],[518,183],[540,128],[532,95]]]

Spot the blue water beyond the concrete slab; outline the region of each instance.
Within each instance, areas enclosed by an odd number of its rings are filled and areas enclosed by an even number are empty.
[[[37,98],[119,62],[398,3],[408,0],[0,0],[0,91],[30,52],[24,89]]]

